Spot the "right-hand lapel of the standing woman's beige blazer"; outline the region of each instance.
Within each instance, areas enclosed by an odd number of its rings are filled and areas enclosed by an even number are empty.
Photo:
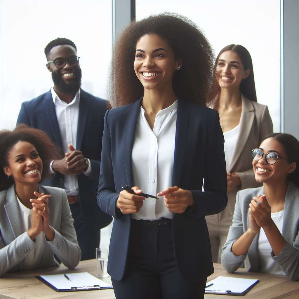
[[[233,158],[229,167],[229,172],[234,169],[235,164],[239,160],[240,155],[246,145],[248,136],[251,132],[254,122],[254,107],[250,100],[242,96],[242,112],[240,118],[239,135],[234,149]]]

